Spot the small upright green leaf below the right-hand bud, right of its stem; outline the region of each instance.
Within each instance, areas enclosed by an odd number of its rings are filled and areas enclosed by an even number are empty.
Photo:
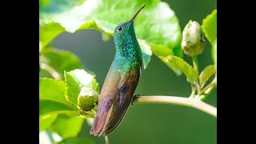
[[[214,65],[206,66],[204,70],[202,70],[201,74],[199,75],[199,81],[201,87],[203,87],[208,79],[215,74],[215,68]]]

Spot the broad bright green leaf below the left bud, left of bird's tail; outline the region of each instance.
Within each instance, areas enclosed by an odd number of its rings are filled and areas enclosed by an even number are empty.
[[[63,139],[76,137],[81,131],[84,118],[70,117],[59,114],[56,121],[50,126],[49,130],[56,132]]]

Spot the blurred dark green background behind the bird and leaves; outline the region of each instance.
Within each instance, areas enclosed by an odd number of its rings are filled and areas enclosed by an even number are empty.
[[[216,0],[169,0],[182,26],[191,20],[202,24],[202,19],[216,9]],[[139,25],[134,22],[134,25]],[[136,31],[136,30],[135,30]],[[110,64],[114,59],[113,38],[102,42],[99,31],[80,30],[74,34],[63,33],[51,42],[58,49],[70,50],[82,63],[97,74],[102,87]],[[199,70],[213,64],[210,43],[198,56]],[[192,65],[191,58],[184,57]],[[135,94],[174,95],[188,97],[190,84],[184,75],[177,77],[159,58],[152,56],[149,66],[144,70]],[[206,99],[210,105],[217,106],[216,89]],[[105,143],[103,137],[89,134],[90,126],[84,122],[78,137],[92,138],[94,142]],[[217,119],[202,111],[189,107],[173,105],[134,105],[130,106],[125,118],[114,133],[109,135],[110,144],[130,143],[171,143],[171,144],[215,144],[217,143]]]

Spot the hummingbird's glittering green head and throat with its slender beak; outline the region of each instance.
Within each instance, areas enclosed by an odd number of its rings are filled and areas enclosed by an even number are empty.
[[[137,59],[137,54],[140,47],[134,31],[134,20],[139,12],[144,8],[143,5],[138,12],[127,22],[122,22],[114,29],[114,44],[116,46],[118,54],[126,56],[126,58]]]

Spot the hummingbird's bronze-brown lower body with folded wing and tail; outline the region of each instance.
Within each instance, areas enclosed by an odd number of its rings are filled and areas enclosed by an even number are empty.
[[[90,134],[110,134],[119,125],[138,86],[140,72],[138,67],[130,69],[123,76],[106,78]]]

